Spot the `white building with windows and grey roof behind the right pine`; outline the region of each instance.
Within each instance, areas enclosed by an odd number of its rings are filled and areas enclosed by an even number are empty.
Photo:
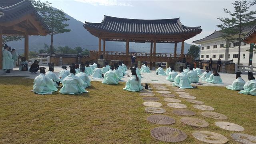
[[[245,33],[251,29],[248,28]],[[193,43],[201,45],[200,59],[210,60],[212,58],[212,60],[218,60],[220,58],[225,61],[234,60],[234,63],[237,63],[238,42],[229,42],[221,37],[222,34],[220,31],[215,31],[205,38],[193,41]],[[240,64],[244,66],[256,66],[256,54],[246,51],[250,48],[252,49],[252,47],[253,44],[241,42]]]

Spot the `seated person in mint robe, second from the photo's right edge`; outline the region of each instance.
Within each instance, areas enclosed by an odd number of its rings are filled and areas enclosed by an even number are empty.
[[[243,90],[245,81],[241,78],[242,72],[236,72],[236,80],[232,83],[232,85],[226,86],[229,90]]]

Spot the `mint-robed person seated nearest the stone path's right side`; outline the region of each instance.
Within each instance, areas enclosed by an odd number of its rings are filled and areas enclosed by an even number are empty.
[[[183,72],[183,66],[180,66],[180,74],[174,78],[172,85],[180,89],[193,88],[190,84],[191,82],[188,80],[188,76]]]

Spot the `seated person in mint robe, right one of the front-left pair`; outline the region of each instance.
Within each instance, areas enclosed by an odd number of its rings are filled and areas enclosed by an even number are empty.
[[[60,89],[61,94],[82,94],[88,92],[84,89],[84,81],[75,76],[76,70],[70,65],[70,74],[62,81],[63,87]]]

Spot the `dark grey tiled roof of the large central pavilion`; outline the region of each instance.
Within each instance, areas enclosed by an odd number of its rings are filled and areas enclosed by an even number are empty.
[[[180,18],[138,20],[104,16],[101,23],[85,22],[84,28],[126,34],[187,34],[202,32],[201,26],[188,27],[182,25]]]

